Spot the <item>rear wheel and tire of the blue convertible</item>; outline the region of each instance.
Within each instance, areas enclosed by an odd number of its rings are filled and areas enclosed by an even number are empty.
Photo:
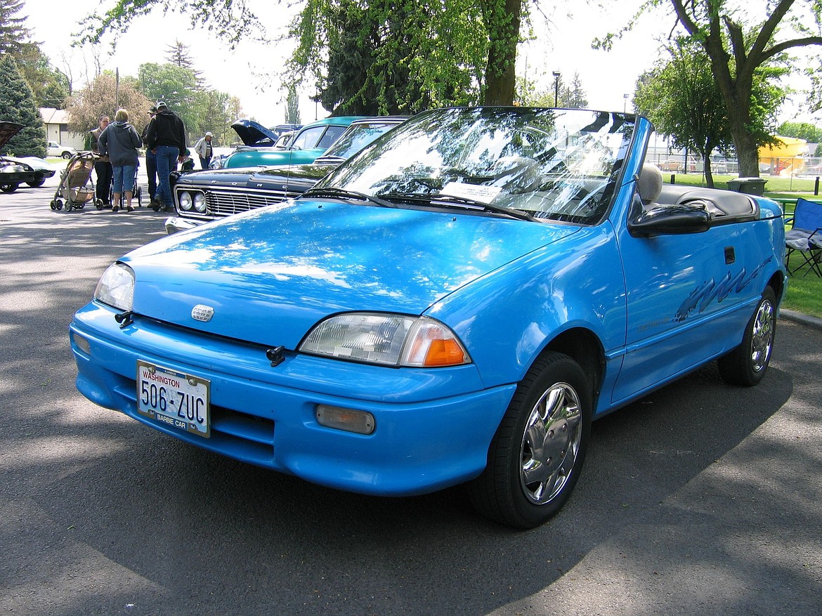
[[[768,370],[775,335],[776,296],[767,287],[746,325],[741,344],[717,360],[719,375],[733,385],[758,384]]]

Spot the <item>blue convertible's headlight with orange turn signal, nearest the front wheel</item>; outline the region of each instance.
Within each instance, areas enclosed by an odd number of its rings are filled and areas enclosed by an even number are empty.
[[[471,362],[455,333],[439,321],[371,312],[321,321],[299,350],[379,365],[433,367]]]

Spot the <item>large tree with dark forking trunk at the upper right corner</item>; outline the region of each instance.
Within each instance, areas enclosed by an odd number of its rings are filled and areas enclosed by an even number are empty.
[[[741,10],[731,0],[646,0],[640,13],[663,8],[709,58],[713,79],[722,94],[728,129],[737,149],[740,175],[759,177],[759,146],[771,135],[755,122],[775,112],[757,109],[755,81],[767,77],[764,67],[792,49],[822,45],[818,29],[822,3],[818,0],[770,0]],[[638,16],[639,16],[638,14]],[[626,26],[622,33],[635,23]],[[598,44],[608,47],[617,34]],[[767,73],[768,71],[764,71]],[[771,79],[778,75],[771,73]],[[771,102],[779,97],[771,97]]]

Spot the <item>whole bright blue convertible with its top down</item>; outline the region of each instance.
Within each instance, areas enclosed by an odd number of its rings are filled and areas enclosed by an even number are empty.
[[[782,212],[663,186],[626,113],[420,113],[296,200],[123,256],[71,324],[77,388],[340,490],[466,484],[552,517],[590,422],[717,360],[764,377]]]

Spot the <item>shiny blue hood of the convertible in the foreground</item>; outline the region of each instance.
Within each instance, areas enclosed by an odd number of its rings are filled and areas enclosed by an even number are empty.
[[[328,315],[423,314],[577,229],[301,199],[175,233],[122,262],[136,275],[136,314],[293,349]],[[193,319],[198,305],[213,308],[213,318]]]

